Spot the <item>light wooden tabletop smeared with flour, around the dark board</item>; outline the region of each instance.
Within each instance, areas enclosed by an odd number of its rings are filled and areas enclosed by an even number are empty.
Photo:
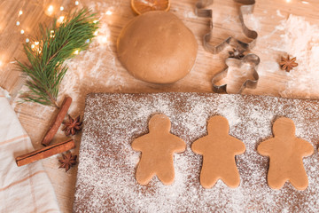
[[[172,0],[170,11],[175,13],[198,40],[198,58],[191,73],[177,83],[158,85],[144,83],[136,80],[121,67],[116,58],[116,39],[121,28],[136,15],[131,11],[129,0],[82,0],[79,5],[71,0],[33,0],[33,1],[0,1],[0,86],[12,95],[12,106],[19,116],[25,130],[27,130],[35,148],[42,147],[41,139],[48,129],[52,117],[57,113],[51,106],[40,106],[34,103],[19,104],[19,92],[26,91],[21,86],[25,77],[16,70],[14,59],[26,61],[23,54],[22,43],[26,39],[36,35],[39,22],[51,23],[51,16],[61,16],[76,7],[89,6],[101,16],[101,29],[97,40],[91,44],[89,51],[80,53],[74,59],[67,62],[69,66],[65,81],[61,85],[58,102],[68,94],[73,97],[74,103],[69,113],[73,116],[83,114],[84,100],[89,92],[159,92],[159,91],[198,91],[212,92],[211,79],[214,74],[224,67],[224,59],[228,57],[228,51],[212,55],[205,51],[202,46],[202,36],[207,31],[207,19],[198,18],[194,14],[196,0]],[[48,7],[53,5],[53,12],[48,12]],[[63,11],[60,11],[63,6]],[[220,43],[228,36],[235,36],[245,42],[242,29],[238,24],[238,4],[232,0],[215,0],[214,8],[214,38],[213,43]],[[279,11],[277,11],[279,10]],[[22,11],[22,14],[19,14]],[[112,14],[110,14],[112,13]],[[280,60],[285,52],[271,51],[269,45],[280,41],[280,33],[274,31],[280,20],[287,19],[289,14],[305,16],[306,20],[313,24],[319,24],[319,2],[316,0],[271,0],[257,1],[253,16],[248,17],[250,27],[256,27],[259,40],[252,52],[259,55],[261,61]],[[247,17],[245,18],[247,19]],[[19,21],[19,26],[17,26]],[[257,25],[258,24],[258,25]],[[21,30],[24,34],[21,34]],[[271,34],[271,37],[268,35]],[[231,48],[228,48],[231,50]],[[267,50],[267,51],[266,51]],[[255,95],[281,96],[289,77],[278,69],[276,72],[268,72],[260,67],[261,79],[256,89],[246,89],[243,93]],[[293,92],[291,97],[305,98],[300,91]],[[307,97],[309,94],[307,94]],[[311,92],[311,98],[318,98],[319,94]],[[64,133],[59,130],[54,142],[66,139]],[[81,135],[75,136],[78,153]],[[59,207],[63,212],[71,212],[74,201],[74,185],[77,169],[68,172],[58,169],[58,157],[53,156],[43,160],[45,170],[51,177],[51,182],[57,193]]]

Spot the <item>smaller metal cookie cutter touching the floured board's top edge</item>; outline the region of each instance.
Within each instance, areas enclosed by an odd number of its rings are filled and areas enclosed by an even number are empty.
[[[253,80],[247,79],[237,91],[237,93],[241,93],[245,88],[256,88],[259,75],[257,73],[257,67],[259,63],[261,62],[261,59],[256,54],[247,54],[243,59],[234,59],[234,58],[228,58],[225,60],[225,63],[227,67],[222,70],[222,72],[214,75],[212,83],[213,83],[213,91],[217,93],[227,93],[227,84],[223,84],[220,86],[217,86],[215,83],[222,80],[222,78],[225,78],[228,74],[229,67],[248,67],[249,69],[253,69]]]

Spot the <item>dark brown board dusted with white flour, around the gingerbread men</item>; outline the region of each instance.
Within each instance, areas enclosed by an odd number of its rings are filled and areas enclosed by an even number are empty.
[[[296,124],[297,137],[316,146],[319,115],[316,100],[280,99],[198,93],[90,94],[76,185],[75,212],[289,212],[318,211],[317,154],[304,159],[309,186],[297,191],[286,183],[281,190],[267,185],[268,158],[256,152],[272,137],[271,123],[287,116]],[[187,149],[175,154],[175,182],[162,185],[153,177],[147,186],[135,179],[139,153],[130,144],[148,132],[152,114],[166,114],[171,132],[183,138]],[[245,143],[236,157],[241,184],[230,189],[217,182],[212,189],[199,184],[201,157],[191,143],[206,135],[206,122],[214,114],[230,122],[230,135]]]

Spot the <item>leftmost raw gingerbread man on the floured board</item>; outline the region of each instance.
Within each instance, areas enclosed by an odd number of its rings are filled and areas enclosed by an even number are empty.
[[[142,152],[136,170],[136,180],[140,185],[147,185],[155,175],[164,185],[173,183],[173,157],[175,153],[183,152],[186,144],[171,134],[170,128],[171,122],[167,115],[153,115],[149,122],[150,133],[133,141],[132,148]]]

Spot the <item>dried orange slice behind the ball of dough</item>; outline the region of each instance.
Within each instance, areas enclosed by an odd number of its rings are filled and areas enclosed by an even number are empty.
[[[138,15],[149,11],[168,11],[170,0],[131,0],[131,7]]]

